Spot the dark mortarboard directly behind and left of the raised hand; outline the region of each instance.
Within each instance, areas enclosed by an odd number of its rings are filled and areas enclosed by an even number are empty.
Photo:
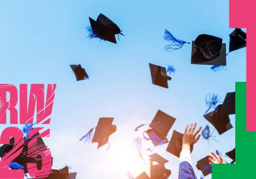
[[[182,151],[182,139],[183,139],[183,134],[174,130],[170,143],[166,148],[166,151],[179,158],[180,152]],[[193,146],[191,146],[190,148],[190,153],[192,151],[193,151]]]

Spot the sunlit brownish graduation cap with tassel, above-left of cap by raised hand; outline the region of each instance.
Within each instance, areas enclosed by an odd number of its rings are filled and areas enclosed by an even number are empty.
[[[165,112],[158,110],[155,114],[154,119],[149,124],[149,127],[151,129],[145,131],[149,138],[146,138],[143,133],[144,139],[150,139],[155,146],[168,143],[169,141],[166,136],[168,135],[171,127],[174,125],[175,120],[176,119],[174,117],[169,116]],[[135,131],[139,130],[144,125],[148,124],[142,124],[137,126]]]

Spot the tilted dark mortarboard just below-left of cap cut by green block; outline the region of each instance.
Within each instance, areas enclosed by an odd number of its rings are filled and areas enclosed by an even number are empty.
[[[204,115],[207,121],[211,123],[218,131],[219,135],[233,128],[230,123],[229,115],[220,115],[220,111],[222,109],[222,104],[219,104],[218,111],[212,111]]]

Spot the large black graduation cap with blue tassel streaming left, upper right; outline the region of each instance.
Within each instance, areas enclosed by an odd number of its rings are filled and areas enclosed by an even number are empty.
[[[190,43],[175,38],[165,30],[164,39],[171,42],[165,45],[166,51],[180,49],[184,44],[192,44],[191,64],[226,66],[226,44],[222,43],[219,37],[201,34]]]

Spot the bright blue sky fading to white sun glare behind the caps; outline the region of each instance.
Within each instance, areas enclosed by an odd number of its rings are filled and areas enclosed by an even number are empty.
[[[100,13],[123,30],[125,37],[119,36],[117,44],[87,39],[89,16],[96,19]],[[235,90],[236,81],[246,81],[245,48],[230,53],[227,70],[218,73],[210,71],[210,66],[190,64],[191,45],[174,52],[164,49],[168,44],[163,40],[164,30],[168,29],[190,42],[200,34],[218,36],[228,50],[233,29],[229,29],[227,0],[3,1],[0,24],[0,81],[16,86],[57,84],[51,124],[45,126],[50,127],[51,136],[45,142],[54,157],[53,169],[72,165],[77,179],[126,179],[126,170],[134,177],[144,170],[149,175],[132,151],[131,140],[141,134],[134,131],[137,125],[151,122],[158,109],[177,119],[169,137],[173,130],[183,133],[187,123],[210,125],[203,117],[206,94],[217,93],[224,99]],[[152,85],[148,63],[174,65],[177,73],[169,89]],[[77,82],[70,64],[81,64],[90,80]],[[100,117],[114,117],[117,125],[109,151],[107,146],[96,151],[97,144],[78,142]],[[230,118],[232,130],[221,136],[215,132],[221,143],[200,139],[195,145],[194,168],[210,151],[224,153],[235,147],[235,116]],[[143,148],[150,146],[143,141]],[[165,164],[172,171],[169,179],[177,179],[178,158],[165,152],[166,147],[154,152],[169,160]],[[144,152],[148,165],[149,154]],[[195,171],[200,178],[201,171]]]

